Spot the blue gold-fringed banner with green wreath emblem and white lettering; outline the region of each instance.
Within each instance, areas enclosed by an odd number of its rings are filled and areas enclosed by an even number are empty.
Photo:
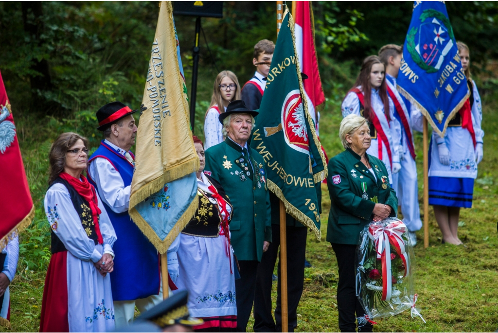
[[[418,106],[443,136],[448,122],[469,97],[444,2],[414,1],[396,82],[399,92]]]

